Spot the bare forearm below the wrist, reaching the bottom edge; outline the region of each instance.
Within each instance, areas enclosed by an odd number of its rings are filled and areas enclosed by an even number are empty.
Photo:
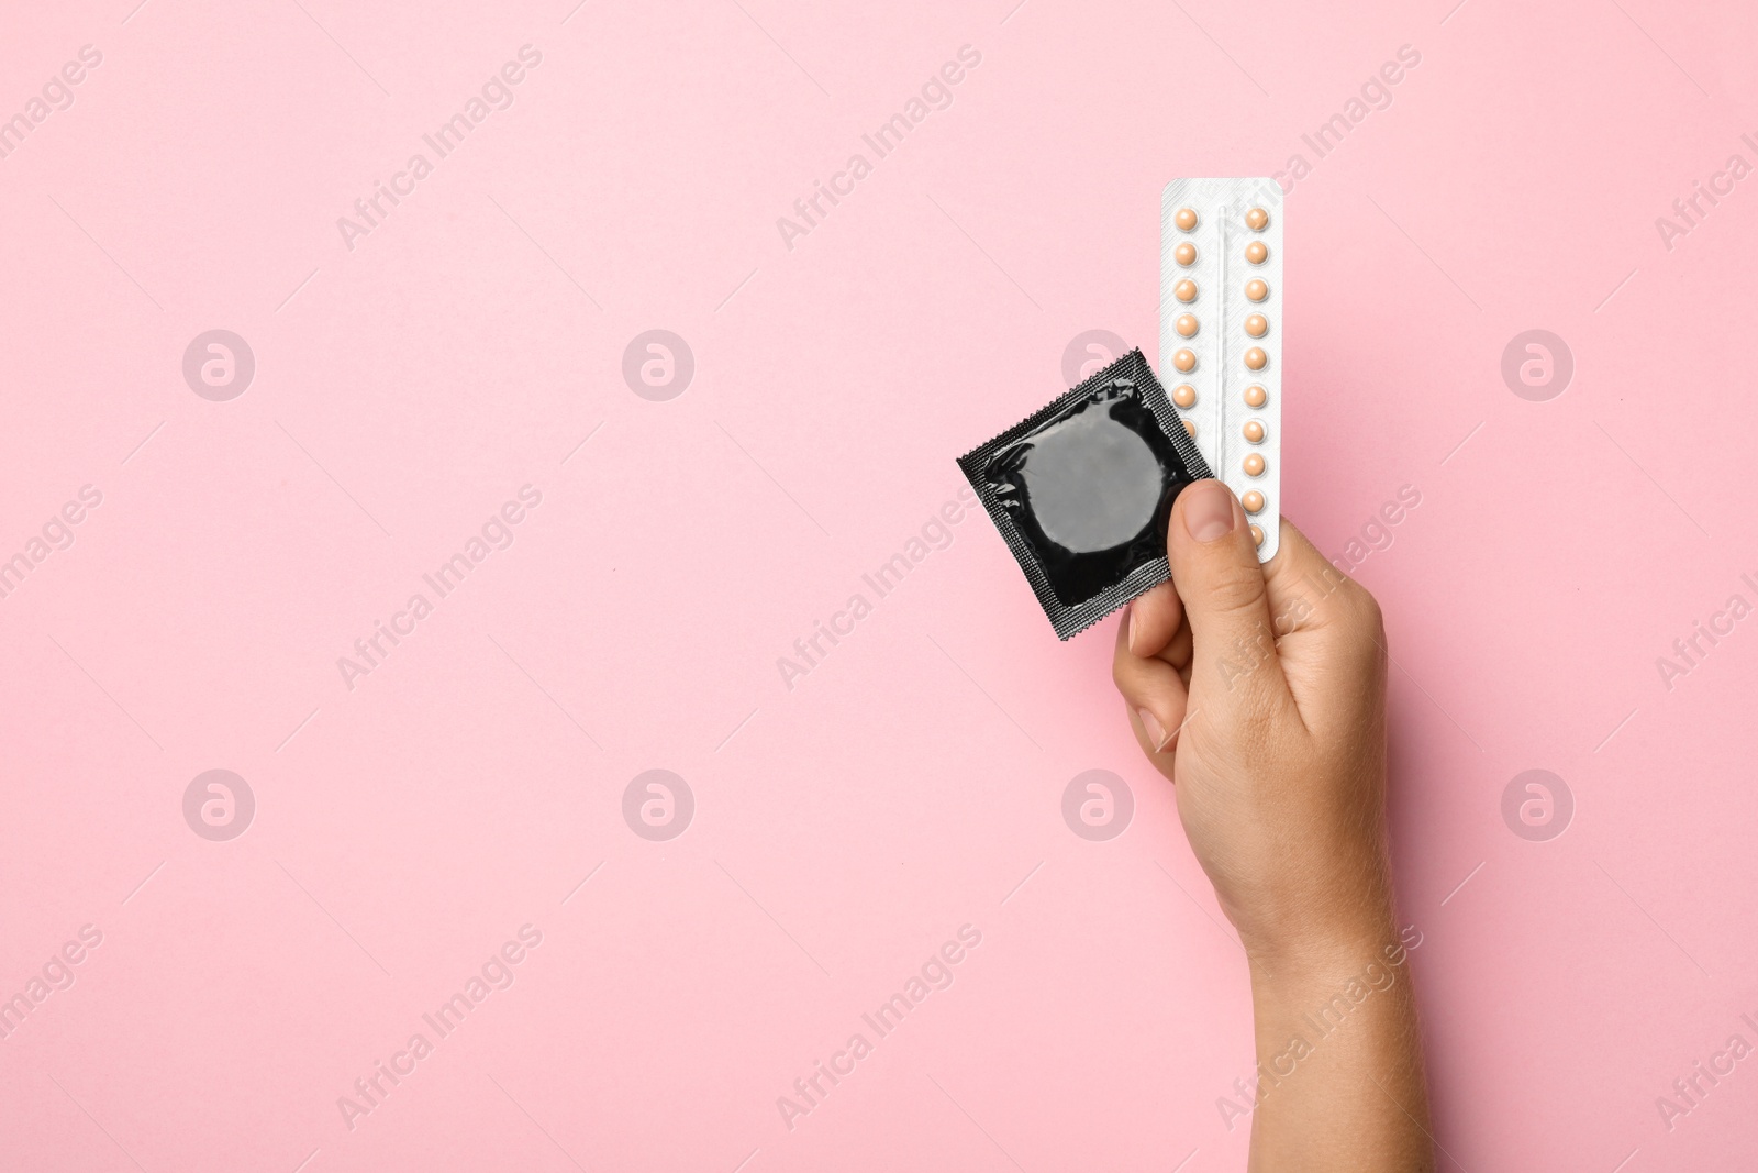
[[[1435,1168],[1406,948],[1387,916],[1253,953],[1252,1173]]]

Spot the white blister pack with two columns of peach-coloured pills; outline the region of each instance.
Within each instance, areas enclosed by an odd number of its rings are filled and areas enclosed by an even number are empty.
[[[1275,179],[1173,179],[1160,195],[1160,382],[1266,563],[1282,515],[1282,213]]]

